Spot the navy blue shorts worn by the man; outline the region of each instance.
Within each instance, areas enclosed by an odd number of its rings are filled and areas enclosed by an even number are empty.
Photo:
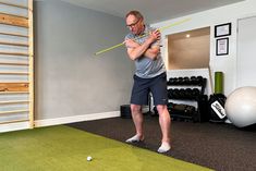
[[[167,105],[167,73],[162,73],[153,78],[141,78],[133,76],[134,85],[131,96],[133,105],[148,105],[148,95],[153,94],[154,105]]]

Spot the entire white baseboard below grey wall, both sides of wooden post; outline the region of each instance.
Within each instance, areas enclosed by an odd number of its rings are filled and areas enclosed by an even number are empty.
[[[120,111],[92,113],[92,114],[54,118],[54,119],[46,119],[46,120],[36,120],[35,127],[52,126],[52,125],[60,125],[60,124],[68,124],[68,123],[83,122],[83,121],[93,121],[93,120],[100,120],[100,119],[108,119],[108,118],[115,118],[115,117],[120,117]],[[29,122],[0,124],[0,133],[28,130],[28,129],[29,129]]]

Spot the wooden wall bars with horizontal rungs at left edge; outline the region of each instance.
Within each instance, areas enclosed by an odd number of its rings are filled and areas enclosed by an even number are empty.
[[[0,125],[34,127],[33,41],[33,0],[0,0]]]

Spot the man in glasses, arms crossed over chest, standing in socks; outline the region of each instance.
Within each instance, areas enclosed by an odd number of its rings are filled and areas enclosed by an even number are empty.
[[[126,143],[144,141],[142,106],[148,105],[148,94],[153,94],[154,103],[159,113],[159,124],[162,139],[158,152],[167,152],[170,145],[171,119],[167,109],[167,75],[160,57],[160,33],[151,29],[144,23],[138,11],[126,14],[126,26],[130,34],[125,36],[125,46],[131,60],[135,61],[136,71],[131,96],[131,111],[136,134],[126,139]]]

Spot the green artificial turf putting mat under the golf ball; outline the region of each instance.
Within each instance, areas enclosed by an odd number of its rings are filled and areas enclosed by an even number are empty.
[[[93,160],[87,161],[87,156]],[[1,171],[207,171],[69,126],[0,134]]]

